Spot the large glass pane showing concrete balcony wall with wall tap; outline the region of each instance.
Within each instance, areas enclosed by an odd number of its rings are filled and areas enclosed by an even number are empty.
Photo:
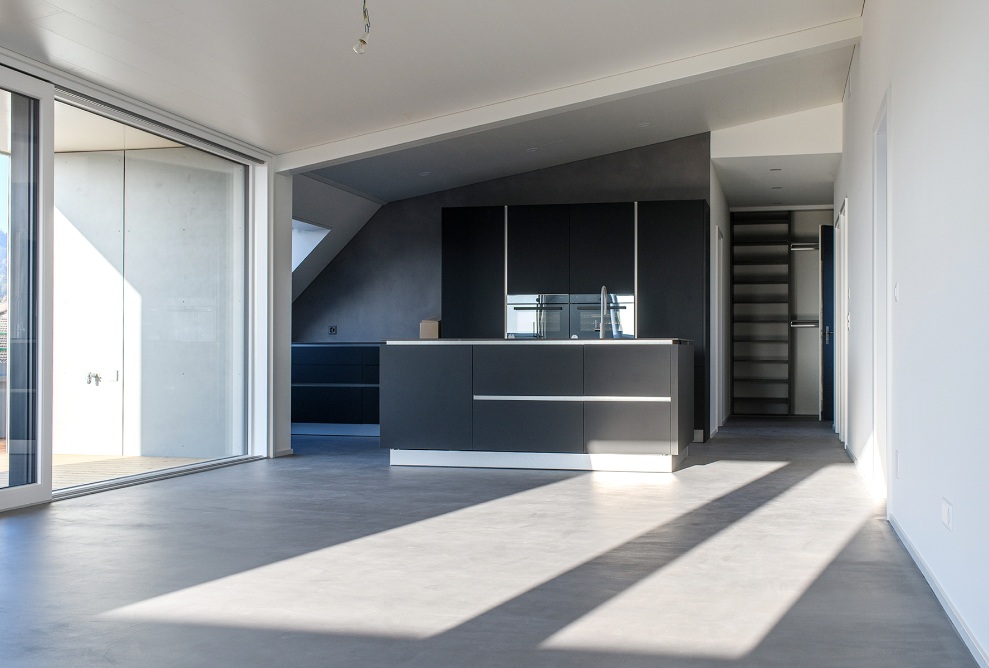
[[[247,167],[55,103],[53,489],[246,454]]]

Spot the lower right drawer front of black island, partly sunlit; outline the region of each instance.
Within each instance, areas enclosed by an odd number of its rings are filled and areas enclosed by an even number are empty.
[[[669,455],[673,453],[670,404],[588,401],[584,404],[584,446],[589,454]]]

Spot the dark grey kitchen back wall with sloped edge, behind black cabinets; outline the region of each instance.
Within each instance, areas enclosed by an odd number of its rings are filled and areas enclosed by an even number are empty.
[[[292,340],[418,338],[441,315],[443,207],[706,200],[710,188],[705,133],[387,204],[295,300]]]

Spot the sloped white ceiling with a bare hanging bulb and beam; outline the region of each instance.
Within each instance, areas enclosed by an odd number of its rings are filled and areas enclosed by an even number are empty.
[[[391,170],[367,188],[390,199],[422,190],[401,178],[409,169],[435,171],[430,188],[445,187],[456,181],[442,179],[465,162],[480,170],[461,181],[833,103],[841,70],[847,73],[847,40],[829,49],[801,44],[800,36],[857,19],[862,3],[368,0],[371,39],[358,56],[351,46],[363,31],[360,0],[0,0],[0,46],[276,154],[383,141],[416,124],[440,128],[415,142],[443,140],[435,147],[379,148],[375,155],[393,160],[336,175],[366,186],[366,174]],[[624,97],[611,90],[584,109],[561,105],[565,113],[556,118],[544,105],[532,119],[526,105],[545,102],[547,92],[565,98],[621,85],[660,65],[672,71],[732,49],[755,53],[791,43],[790,58],[737,60],[720,74],[712,68],[683,77],[682,86],[668,77],[666,93],[655,86]],[[785,60],[793,62],[779,62]],[[507,134],[486,137],[496,128],[478,124],[457,133],[474,135],[466,144],[448,143],[454,140],[444,119],[506,105],[517,109],[498,124],[511,126]],[[646,122],[638,118],[653,125],[637,132]],[[635,129],[627,127],[632,121]],[[525,144],[523,150],[538,147],[537,155],[507,155]],[[476,153],[465,158],[464,150]],[[293,171],[369,157],[330,153],[332,159],[317,153],[308,163],[296,156]],[[418,167],[424,162],[438,166]]]

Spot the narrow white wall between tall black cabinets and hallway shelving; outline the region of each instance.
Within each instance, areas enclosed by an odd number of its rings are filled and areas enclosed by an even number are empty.
[[[728,318],[731,315],[729,273],[731,272],[731,213],[728,200],[711,164],[711,267],[718,267],[718,230],[723,248],[720,271],[711,272],[711,413],[713,436],[724,423],[728,413],[731,391],[731,341]],[[720,330],[720,331],[719,331]],[[721,401],[719,402],[719,395]],[[720,411],[719,411],[720,408]]]

